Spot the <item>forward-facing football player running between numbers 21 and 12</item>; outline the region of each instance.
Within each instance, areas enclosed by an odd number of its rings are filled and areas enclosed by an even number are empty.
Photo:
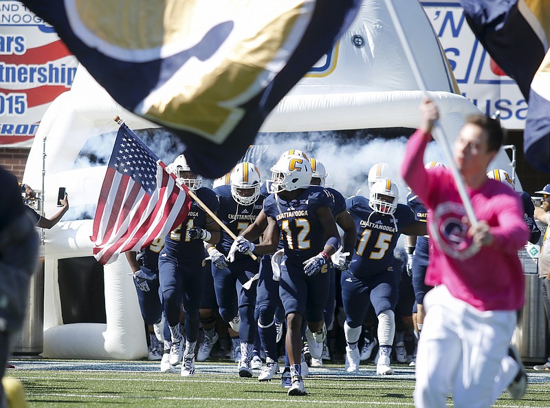
[[[241,235],[260,213],[264,195],[260,194],[261,180],[256,166],[241,162],[234,167],[230,186],[214,189],[219,199],[219,218],[234,235]],[[239,332],[241,359],[238,372],[241,377],[252,377],[252,353],[256,338],[256,283],[243,287],[259,271],[259,263],[248,255],[236,254],[231,262],[225,261],[234,239],[221,231],[217,246],[208,245],[212,257],[212,277],[222,319]]]

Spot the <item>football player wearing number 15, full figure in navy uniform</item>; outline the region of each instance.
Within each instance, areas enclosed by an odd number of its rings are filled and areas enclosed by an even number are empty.
[[[395,335],[395,305],[399,274],[394,270],[393,251],[399,235],[426,234],[426,224],[416,222],[412,211],[398,204],[399,191],[390,180],[379,180],[371,187],[369,199],[362,196],[347,200],[347,209],[355,220],[358,242],[348,270],[342,271],[342,301],[346,322],[346,369],[359,369],[358,341],[362,323],[372,303],[378,318],[380,343],[376,373],[393,374],[390,354]]]

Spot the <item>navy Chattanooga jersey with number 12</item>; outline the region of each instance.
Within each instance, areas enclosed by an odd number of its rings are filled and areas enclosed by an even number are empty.
[[[325,248],[327,237],[316,211],[319,207],[331,209],[333,202],[331,193],[320,186],[309,186],[290,201],[281,197],[277,200],[274,194],[267,196],[263,211],[265,215],[275,219],[281,228],[287,262],[301,266],[303,261],[314,257]]]

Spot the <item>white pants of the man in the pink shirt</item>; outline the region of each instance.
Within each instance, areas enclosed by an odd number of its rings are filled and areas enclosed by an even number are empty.
[[[518,374],[508,356],[516,312],[481,312],[452,297],[445,286],[426,294],[417,352],[415,407],[485,408]]]

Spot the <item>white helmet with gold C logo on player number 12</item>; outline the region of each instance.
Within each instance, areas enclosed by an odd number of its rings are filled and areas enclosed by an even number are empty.
[[[305,189],[311,183],[311,165],[300,155],[281,157],[271,171],[272,193]]]

